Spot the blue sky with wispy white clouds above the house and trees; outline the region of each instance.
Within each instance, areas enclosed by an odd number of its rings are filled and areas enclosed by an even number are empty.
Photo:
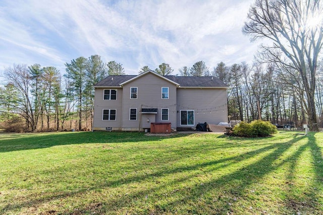
[[[213,69],[252,63],[256,43],[241,28],[253,0],[0,0],[0,73],[15,64],[56,66],[101,55],[126,74],[166,62],[174,69],[203,60]]]

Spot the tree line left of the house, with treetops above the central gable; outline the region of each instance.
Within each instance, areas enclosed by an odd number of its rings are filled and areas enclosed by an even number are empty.
[[[64,75],[54,66],[14,64],[5,69],[0,87],[0,123],[8,131],[89,130],[94,112],[94,84],[107,76],[125,75],[116,61],[83,56],[65,63]],[[143,66],[138,73],[149,69]],[[161,63],[154,71],[169,75]]]

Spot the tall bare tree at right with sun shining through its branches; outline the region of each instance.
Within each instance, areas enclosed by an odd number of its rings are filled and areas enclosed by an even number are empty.
[[[323,5],[312,0],[256,0],[242,29],[251,40],[266,38],[259,59],[298,71],[306,94],[308,121],[318,130],[315,75],[323,45]]]

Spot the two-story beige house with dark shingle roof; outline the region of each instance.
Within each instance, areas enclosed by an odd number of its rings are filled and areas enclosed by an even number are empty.
[[[172,129],[228,121],[228,86],[215,77],[109,76],[96,83],[93,130],[138,131],[151,122]]]

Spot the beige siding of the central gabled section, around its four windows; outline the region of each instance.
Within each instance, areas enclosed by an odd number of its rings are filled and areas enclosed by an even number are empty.
[[[137,99],[130,99],[130,88],[137,87]],[[161,98],[161,88],[169,88],[169,99]],[[118,92],[119,95],[119,92]],[[130,108],[137,108],[137,120],[129,120]],[[123,124],[125,130],[136,128],[142,125],[147,126],[141,120],[141,108],[157,108],[155,122],[171,122],[172,128],[176,128],[176,85],[148,73],[139,79],[129,82],[123,86]],[[161,121],[161,108],[169,109],[169,120]],[[141,123],[141,125],[139,125]]]

